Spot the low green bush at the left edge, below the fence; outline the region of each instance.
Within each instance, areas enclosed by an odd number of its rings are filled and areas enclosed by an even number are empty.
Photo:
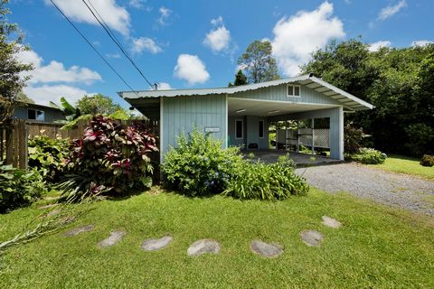
[[[38,171],[24,171],[0,162],[0,213],[29,205],[45,191]]]

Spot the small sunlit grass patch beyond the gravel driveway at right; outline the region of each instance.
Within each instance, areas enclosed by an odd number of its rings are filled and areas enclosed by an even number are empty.
[[[421,166],[420,160],[408,156],[391,154],[382,164],[370,164],[369,166],[384,171],[415,175],[429,180],[434,180],[434,167]]]

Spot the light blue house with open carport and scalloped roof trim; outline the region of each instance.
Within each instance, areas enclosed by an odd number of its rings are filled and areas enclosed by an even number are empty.
[[[328,135],[323,135],[323,139],[330,157],[343,160],[344,112],[373,108],[313,74],[231,88],[118,94],[146,117],[159,121],[161,158],[170,145],[176,145],[177,135],[189,133],[193,127],[221,139],[225,147],[268,149],[271,122],[310,119],[313,125],[320,118],[328,121]],[[293,134],[295,137],[284,137],[284,142],[287,146],[303,141],[306,144],[309,135],[313,150],[318,139],[314,127],[300,128]]]

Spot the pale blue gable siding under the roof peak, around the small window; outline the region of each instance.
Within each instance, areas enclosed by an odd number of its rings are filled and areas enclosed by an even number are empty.
[[[300,97],[288,97],[287,85],[282,84],[275,87],[243,91],[231,95],[232,98],[252,98],[265,99],[276,101],[288,101],[296,103],[312,103],[312,104],[331,104],[341,105],[341,103],[333,98],[329,98],[314,89],[309,89],[307,86],[301,86]]]

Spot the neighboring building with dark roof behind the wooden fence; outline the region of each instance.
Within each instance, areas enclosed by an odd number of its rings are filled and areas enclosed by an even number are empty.
[[[55,120],[65,120],[65,116],[61,112],[61,109],[33,103],[22,103],[17,105],[14,110],[14,118],[47,123],[52,123]]]

